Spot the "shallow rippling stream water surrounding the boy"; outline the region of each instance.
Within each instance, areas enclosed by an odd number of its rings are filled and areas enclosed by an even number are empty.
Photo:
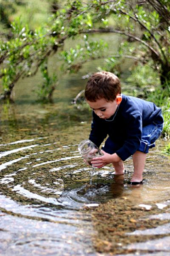
[[[24,91],[1,104],[0,255],[170,255],[165,142],[148,155],[143,186],[128,185],[132,159],[125,177],[106,166],[90,184],[77,146],[91,113],[70,104],[80,82],[64,81],[52,105],[30,104]]]

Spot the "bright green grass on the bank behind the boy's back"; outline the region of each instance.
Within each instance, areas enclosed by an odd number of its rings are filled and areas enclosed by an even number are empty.
[[[163,136],[170,138],[170,82],[166,82],[163,90],[160,84],[160,78],[157,72],[149,68],[147,65],[139,65],[132,70],[132,74],[128,77],[127,82],[131,82],[136,89],[136,97],[142,95],[145,100],[154,102],[155,105],[162,108],[164,117]]]

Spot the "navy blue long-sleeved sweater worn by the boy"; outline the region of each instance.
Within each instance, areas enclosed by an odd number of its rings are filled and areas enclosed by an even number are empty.
[[[115,115],[115,118],[113,118]],[[125,161],[140,146],[142,127],[155,122],[162,124],[162,110],[152,102],[137,97],[123,95],[118,112],[108,122],[99,118],[93,111],[93,122],[89,139],[100,146],[107,135],[113,142],[120,145],[115,153]],[[109,120],[109,119],[108,119]]]

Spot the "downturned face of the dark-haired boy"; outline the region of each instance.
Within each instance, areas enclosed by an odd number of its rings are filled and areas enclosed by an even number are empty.
[[[96,102],[90,102],[89,100],[86,100],[86,102],[101,119],[108,119],[113,116],[120,104],[120,101],[118,101],[117,98],[115,98],[113,102],[107,102],[104,98],[96,100]]]

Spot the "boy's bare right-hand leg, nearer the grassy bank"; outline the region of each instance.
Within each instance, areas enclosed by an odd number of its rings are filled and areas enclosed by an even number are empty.
[[[147,154],[141,151],[136,151],[135,154],[133,154],[132,160],[133,160],[133,166],[134,166],[134,174],[132,175],[131,182],[142,181],[143,179],[142,174],[144,171],[146,158],[147,158]]]

